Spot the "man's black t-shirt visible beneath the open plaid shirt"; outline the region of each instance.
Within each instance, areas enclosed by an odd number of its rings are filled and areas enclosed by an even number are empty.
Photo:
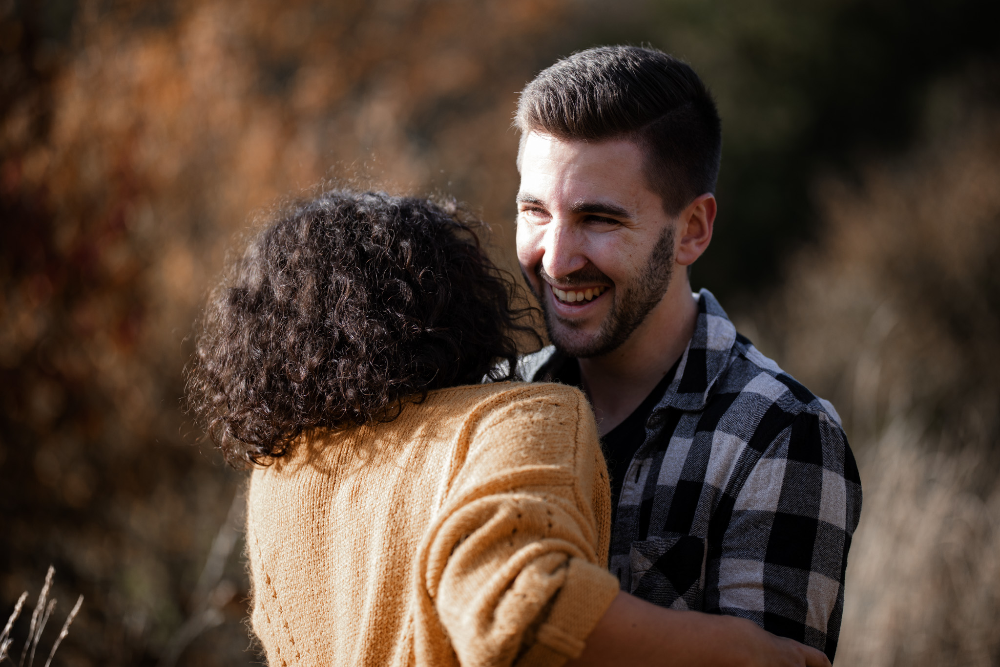
[[[663,379],[657,383],[651,392],[643,399],[635,410],[632,411],[622,423],[604,434],[601,438],[601,449],[604,451],[604,460],[608,464],[608,477],[611,482],[611,521],[614,523],[615,514],[618,511],[618,496],[621,495],[622,485],[625,482],[625,475],[628,474],[629,464],[632,457],[639,450],[646,439],[646,422],[653,408],[660,402],[663,395],[667,393],[667,387],[674,379],[677,372],[677,363],[667,371]],[[583,391],[583,380],[580,377],[580,364],[575,357],[567,358],[557,367],[553,368],[549,377],[554,382],[572,385]]]

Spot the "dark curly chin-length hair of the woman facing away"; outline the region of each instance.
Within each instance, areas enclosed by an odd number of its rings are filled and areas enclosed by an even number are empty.
[[[188,369],[188,405],[226,460],[266,464],[305,430],[518,379],[533,309],[479,225],[451,203],[335,190],[261,231],[209,298]]]

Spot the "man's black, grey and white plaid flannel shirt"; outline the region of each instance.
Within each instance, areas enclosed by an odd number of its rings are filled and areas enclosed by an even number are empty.
[[[837,648],[861,481],[836,410],[736,332],[708,290],[622,484],[610,569],[673,609]],[[550,379],[547,347],[520,363]]]

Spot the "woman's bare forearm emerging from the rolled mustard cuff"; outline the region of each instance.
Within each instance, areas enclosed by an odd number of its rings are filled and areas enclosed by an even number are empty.
[[[663,609],[619,593],[567,667],[830,667],[826,655],[734,616]]]

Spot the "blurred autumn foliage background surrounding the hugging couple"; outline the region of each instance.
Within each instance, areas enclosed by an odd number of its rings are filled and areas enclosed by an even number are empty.
[[[479,207],[513,268],[517,91],[632,43],[723,118],[695,288],[858,456],[837,663],[1000,665],[998,25],[987,0],[0,0],[0,621],[52,563],[40,651],[86,598],[55,664],[259,664],[244,474],[181,404],[227,249],[350,179]]]

